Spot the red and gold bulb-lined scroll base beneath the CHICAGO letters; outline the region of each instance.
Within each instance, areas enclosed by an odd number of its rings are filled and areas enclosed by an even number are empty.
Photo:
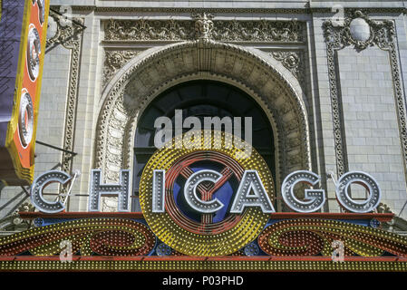
[[[270,223],[258,237],[258,245],[266,250],[266,254],[247,256],[246,251],[238,251],[232,256],[216,257],[179,256],[177,253],[170,254],[171,250],[160,251],[161,246],[166,245],[159,240],[154,241],[150,229],[143,225],[140,213],[100,214],[64,213],[50,216],[35,212],[21,213],[22,218],[35,218],[36,227],[13,236],[0,237],[1,270],[407,271],[407,238],[376,229],[367,222],[372,218],[390,221],[391,214],[275,213],[270,215]],[[103,218],[97,218],[99,216]],[[43,225],[39,223],[40,220]],[[287,235],[304,239],[308,246],[298,247],[295,238],[288,246],[285,244]],[[315,235],[329,238],[317,242]],[[131,236],[135,239],[129,247]],[[331,238],[341,238],[346,251],[350,247],[359,256],[344,256],[343,262],[335,262],[331,256]],[[72,241],[73,253],[80,249],[80,254],[74,254],[69,262],[59,256],[59,245],[64,240]],[[126,240],[128,246],[123,244]],[[320,249],[323,256],[314,256]],[[33,256],[18,256],[27,251]],[[93,251],[102,256],[92,256]],[[384,251],[394,256],[382,256]]]

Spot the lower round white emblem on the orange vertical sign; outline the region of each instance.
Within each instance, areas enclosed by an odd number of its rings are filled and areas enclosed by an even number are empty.
[[[34,108],[30,94],[24,89],[20,100],[18,115],[18,132],[23,147],[27,147],[33,138],[34,131]]]

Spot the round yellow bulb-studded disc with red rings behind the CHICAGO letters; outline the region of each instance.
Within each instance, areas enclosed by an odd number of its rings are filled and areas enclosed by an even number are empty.
[[[222,133],[220,142],[226,144],[233,136]],[[147,163],[141,176],[141,209],[151,230],[160,240],[182,254],[189,256],[226,256],[252,242],[264,229],[269,214],[261,208],[245,208],[241,214],[229,213],[229,208],[237,193],[237,188],[245,170],[257,170],[271,201],[274,198],[274,185],[265,160],[251,149],[244,156],[232,141],[231,146],[211,146],[205,149],[202,132],[201,148],[187,149],[182,139],[176,138],[174,146],[158,150]],[[242,142],[241,140],[239,140]],[[213,137],[209,144],[217,145]],[[242,147],[240,147],[242,148]],[[237,156],[239,158],[237,158]],[[165,170],[165,210],[153,212],[153,171]],[[212,172],[220,177],[216,182],[199,171]],[[195,194],[200,201],[216,199],[224,205],[214,212],[197,211],[186,200],[184,190],[196,182]]]

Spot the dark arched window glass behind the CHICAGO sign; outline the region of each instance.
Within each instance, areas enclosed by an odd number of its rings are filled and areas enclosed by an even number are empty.
[[[216,81],[183,82],[162,92],[142,113],[138,122],[134,146],[133,196],[138,197],[142,170],[157,150],[154,147],[154,122],[165,116],[173,121],[175,111],[182,110],[183,119],[198,117],[252,118],[252,145],[266,160],[273,177],[276,176],[273,131],[266,113],[246,92],[235,86]],[[243,127],[244,121],[242,121]],[[188,130],[186,130],[188,131]],[[244,128],[242,131],[244,138]],[[275,178],[274,178],[275,179]],[[276,183],[276,179],[274,180]],[[132,211],[141,211],[138,198],[132,198]]]

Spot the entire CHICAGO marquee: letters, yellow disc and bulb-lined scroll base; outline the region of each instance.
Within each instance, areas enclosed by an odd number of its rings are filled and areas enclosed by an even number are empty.
[[[141,213],[129,211],[130,171],[117,184],[103,184],[93,169],[88,212],[65,212],[43,190],[72,177],[50,171],[34,181],[32,201],[41,212],[20,213],[34,228],[0,239],[4,270],[407,270],[407,238],[386,231],[392,214],[374,214],[381,189],[370,175],[349,172],[336,182],[336,197],[347,213],[318,213],[325,190],[312,189],[320,177],[310,171],[288,175],[281,187],[286,205],[277,213],[276,189],[265,160],[252,150],[246,158],[231,136],[200,139],[201,148],[175,140],[150,158],[140,184]],[[216,142],[222,146],[213,149]],[[209,146],[206,146],[209,145]],[[207,148],[207,149],[206,149]],[[306,183],[304,198],[294,188]],[[349,194],[353,183],[369,192]],[[74,195],[74,194],[71,194]],[[118,197],[116,213],[100,212],[103,195]],[[21,254],[25,256],[20,256]],[[29,254],[29,256],[26,256]]]

